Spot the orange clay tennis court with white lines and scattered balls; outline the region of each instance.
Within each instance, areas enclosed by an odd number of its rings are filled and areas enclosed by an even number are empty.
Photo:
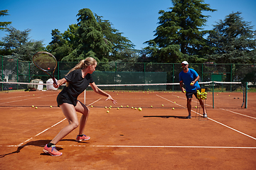
[[[56,145],[60,157],[43,153],[68,125],[56,107],[58,91],[1,93],[0,169],[255,169],[254,93],[248,93],[248,108],[241,108],[239,92],[215,93],[212,108],[209,93],[208,119],[198,117],[193,97],[187,120],[186,96],[178,91],[107,92],[117,106],[88,91],[85,135],[91,139],[75,142],[75,129]]]

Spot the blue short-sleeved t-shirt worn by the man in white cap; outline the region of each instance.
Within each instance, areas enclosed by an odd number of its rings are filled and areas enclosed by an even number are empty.
[[[178,74],[179,81],[183,81],[183,84],[186,86],[186,91],[188,92],[193,92],[196,91],[196,89],[200,89],[198,81],[196,81],[193,86],[190,85],[191,81],[194,81],[196,77],[198,77],[198,73],[194,69],[188,69],[187,73],[182,71],[180,74]]]

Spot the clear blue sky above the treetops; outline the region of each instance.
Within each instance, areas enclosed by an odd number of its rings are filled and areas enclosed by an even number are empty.
[[[43,40],[45,45],[51,41],[51,30],[57,28],[63,33],[68,26],[77,23],[78,11],[90,8],[92,13],[109,20],[113,27],[131,40],[136,49],[146,47],[143,43],[154,38],[154,30],[158,26],[159,10],[169,11],[171,0],[10,0],[1,1],[0,10],[8,9],[10,16],[1,16],[0,21],[11,21],[18,30],[31,29],[33,40]],[[213,24],[223,20],[232,12],[242,12],[244,21],[250,21],[256,30],[255,0],[205,0],[215,12],[204,12],[208,18],[205,30],[213,28]],[[6,32],[0,31],[0,38]]]

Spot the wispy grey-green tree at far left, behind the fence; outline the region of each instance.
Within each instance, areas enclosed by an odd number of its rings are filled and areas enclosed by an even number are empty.
[[[31,61],[33,55],[39,50],[44,50],[43,41],[30,40],[31,30],[17,30],[14,27],[6,28],[9,35],[3,38],[1,48],[7,57],[16,58],[23,61]]]

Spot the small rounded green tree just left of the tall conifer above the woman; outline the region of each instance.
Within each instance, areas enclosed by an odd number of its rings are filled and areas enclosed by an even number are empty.
[[[68,45],[68,40],[63,38],[63,34],[58,29],[52,30],[52,41],[47,45],[47,50],[56,57],[59,62],[63,57],[72,52],[72,48]]]

